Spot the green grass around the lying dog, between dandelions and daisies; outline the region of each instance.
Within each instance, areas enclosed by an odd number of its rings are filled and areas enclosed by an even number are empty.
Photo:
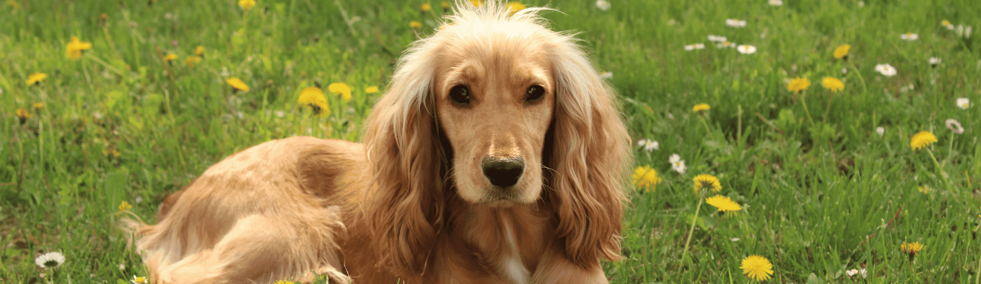
[[[0,282],[145,275],[115,225],[121,202],[153,220],[168,194],[235,151],[293,135],[359,139],[380,96],[365,88],[384,92],[396,58],[441,15],[439,2],[431,14],[419,11],[422,1],[260,0],[245,13],[236,2],[0,4]],[[594,1],[525,3],[562,12],[545,17],[581,32],[597,69],[612,71],[635,140],[660,144],[637,150],[638,166],[663,180],[631,195],[626,259],[604,263],[612,283],[746,283],[740,262],[750,255],[773,263],[771,283],[979,283],[975,1],[611,2],[605,12]],[[728,18],[748,26],[726,26]],[[973,32],[960,37],[944,20]],[[904,32],[919,39],[901,40]],[[708,34],[758,50],[718,49]],[[78,60],[66,58],[72,36],[92,44]],[[706,48],[683,48],[698,42]],[[840,44],[852,45],[847,64],[832,57]],[[204,60],[188,68],[196,46]],[[178,60],[165,64],[168,53]],[[943,62],[932,68],[931,56]],[[899,74],[881,75],[877,64]],[[26,84],[35,71],[48,77]],[[232,76],[251,90],[233,92]],[[799,76],[812,85],[794,94],[785,80]],[[825,90],[825,76],[845,89]],[[354,98],[328,95],[331,115],[296,103],[300,89],[335,82]],[[968,109],[955,106],[960,97]],[[693,114],[697,103],[711,109]],[[32,116],[22,122],[19,108]],[[945,128],[947,118],[966,131]],[[939,141],[913,151],[909,138],[921,130]],[[686,173],[670,169],[675,153]],[[718,176],[720,194],[744,210],[696,213],[700,173]],[[903,242],[925,248],[911,261]],[[68,261],[34,265],[46,252]],[[863,266],[866,279],[844,274]]]

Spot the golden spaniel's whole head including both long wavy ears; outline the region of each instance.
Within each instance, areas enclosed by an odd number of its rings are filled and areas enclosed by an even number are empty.
[[[630,142],[612,91],[572,35],[544,26],[545,9],[488,2],[458,5],[414,43],[369,120],[378,252],[419,272],[458,197],[547,201],[570,260],[618,258]]]

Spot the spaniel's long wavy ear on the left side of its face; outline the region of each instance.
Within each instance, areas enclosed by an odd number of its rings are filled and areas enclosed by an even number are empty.
[[[434,50],[424,39],[399,59],[365,133],[375,177],[367,215],[373,245],[381,264],[406,275],[422,273],[443,208],[446,158],[435,120]]]

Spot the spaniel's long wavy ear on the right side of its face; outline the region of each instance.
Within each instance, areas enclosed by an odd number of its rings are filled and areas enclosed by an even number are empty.
[[[630,137],[613,91],[602,81],[571,35],[552,41],[555,120],[547,166],[557,232],[577,265],[619,260],[625,166]],[[557,198],[556,198],[557,197]]]

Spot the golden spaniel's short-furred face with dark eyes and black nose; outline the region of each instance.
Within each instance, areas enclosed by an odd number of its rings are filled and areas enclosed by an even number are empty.
[[[551,64],[542,43],[525,36],[468,34],[473,36],[447,36],[434,81],[457,193],[492,207],[535,202],[555,105]]]

